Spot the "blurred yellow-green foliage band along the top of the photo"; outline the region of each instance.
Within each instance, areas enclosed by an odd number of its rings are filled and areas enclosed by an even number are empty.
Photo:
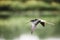
[[[50,4],[44,1],[26,1],[26,2],[21,2],[21,1],[0,1],[0,6],[10,6],[13,9],[17,10],[26,10],[26,9],[41,9],[41,8],[46,8],[48,10],[56,9],[60,10],[60,4],[56,2],[51,2]]]

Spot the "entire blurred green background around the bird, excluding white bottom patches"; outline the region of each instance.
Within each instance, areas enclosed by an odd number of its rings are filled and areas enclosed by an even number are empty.
[[[60,37],[60,0],[0,0],[0,37],[6,40],[31,31],[31,19],[41,18],[55,25],[38,25],[40,38]]]

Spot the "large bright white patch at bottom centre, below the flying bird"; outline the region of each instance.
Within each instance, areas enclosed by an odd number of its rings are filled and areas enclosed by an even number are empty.
[[[21,34],[18,38],[15,38],[14,40],[40,40],[40,39],[37,35]]]

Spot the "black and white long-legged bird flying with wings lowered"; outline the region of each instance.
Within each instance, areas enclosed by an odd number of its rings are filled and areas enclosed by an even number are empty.
[[[50,22],[46,22],[45,20],[43,19],[33,19],[33,20],[30,20],[31,22],[31,34],[34,32],[35,28],[37,27],[37,25],[40,23],[43,27],[45,27],[45,24],[48,23],[48,24],[51,24],[51,25],[54,25],[53,23],[50,23]]]

